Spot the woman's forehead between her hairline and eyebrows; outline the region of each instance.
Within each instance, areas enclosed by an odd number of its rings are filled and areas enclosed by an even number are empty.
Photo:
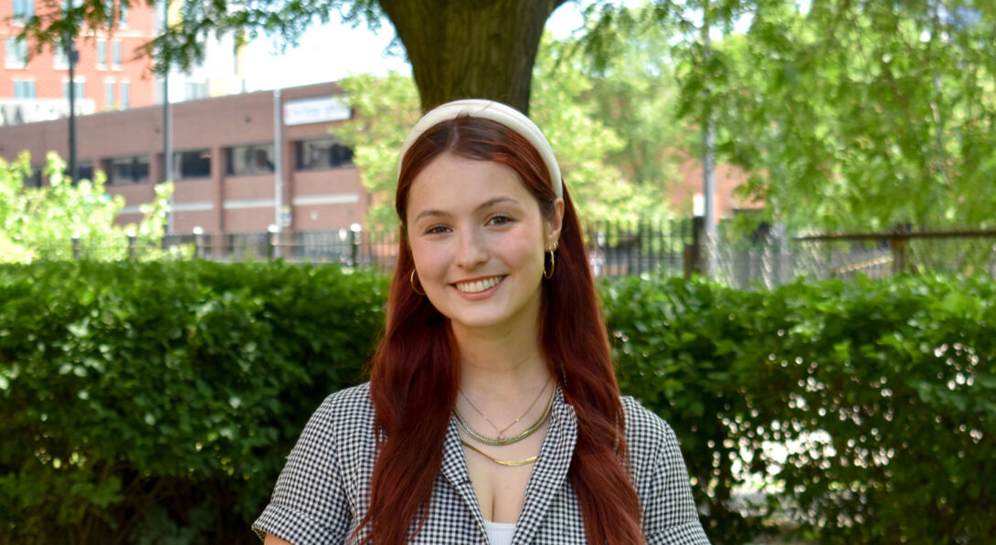
[[[519,174],[495,161],[445,153],[433,159],[411,182],[406,216],[426,209],[459,212],[505,197],[520,204],[535,201]]]

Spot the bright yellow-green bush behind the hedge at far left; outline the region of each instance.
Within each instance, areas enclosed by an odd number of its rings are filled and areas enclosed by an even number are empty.
[[[124,198],[105,191],[102,172],[93,181],[73,183],[63,174],[66,163],[58,155],[49,153],[47,159],[49,184],[40,188],[24,186],[31,173],[27,152],[13,163],[0,159],[0,263],[65,260],[76,253],[83,259],[121,260],[128,257],[129,246],[141,259],[189,253],[185,248],[161,250],[172,184],[155,186],[155,199],[140,207],[141,222],[120,226],[115,218]]]

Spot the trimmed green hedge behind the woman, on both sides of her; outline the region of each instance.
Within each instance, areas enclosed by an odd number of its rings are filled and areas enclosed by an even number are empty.
[[[0,267],[0,543],[252,543],[311,412],[364,380],[385,289],[279,263]],[[676,430],[715,542],[996,535],[992,280],[602,292],[622,389]]]

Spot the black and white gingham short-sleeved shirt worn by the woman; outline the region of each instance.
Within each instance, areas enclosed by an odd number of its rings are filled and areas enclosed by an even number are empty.
[[[674,432],[632,398],[623,397],[622,407],[647,543],[707,544]],[[329,396],[287,457],[270,504],[253,529],[294,545],[345,543],[370,506],[373,429],[368,384]],[[581,507],[567,476],[577,432],[574,408],[558,389],[550,430],[526,487],[514,545],[586,543]],[[443,440],[442,466],[428,511],[421,530],[409,536],[410,543],[488,543],[453,420]]]

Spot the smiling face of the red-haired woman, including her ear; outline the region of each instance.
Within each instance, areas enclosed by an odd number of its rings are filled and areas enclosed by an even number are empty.
[[[445,153],[414,178],[408,245],[425,295],[454,327],[537,323],[544,253],[560,234],[511,167]],[[526,320],[526,321],[521,321]]]

